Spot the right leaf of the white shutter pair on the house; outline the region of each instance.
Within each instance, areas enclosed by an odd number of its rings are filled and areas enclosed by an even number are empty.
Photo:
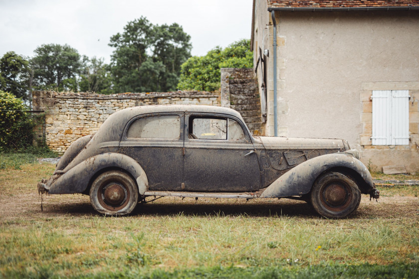
[[[392,90],[392,145],[409,145],[409,90]]]

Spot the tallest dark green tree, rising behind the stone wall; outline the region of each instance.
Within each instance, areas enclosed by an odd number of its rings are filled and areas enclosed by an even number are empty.
[[[147,18],[128,22],[111,37],[115,92],[176,90],[181,65],[191,56],[191,37],[177,23],[153,25]]]

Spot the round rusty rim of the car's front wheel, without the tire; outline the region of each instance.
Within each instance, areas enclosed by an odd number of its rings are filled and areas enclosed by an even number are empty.
[[[328,210],[342,211],[351,204],[352,190],[343,181],[331,181],[321,189],[320,199]]]

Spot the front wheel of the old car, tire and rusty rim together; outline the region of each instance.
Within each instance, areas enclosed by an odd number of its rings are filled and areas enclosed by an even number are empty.
[[[361,191],[350,176],[329,171],[314,182],[310,200],[321,216],[345,218],[357,210],[361,202]]]

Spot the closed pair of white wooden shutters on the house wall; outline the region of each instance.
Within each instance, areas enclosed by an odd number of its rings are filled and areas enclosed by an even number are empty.
[[[409,145],[409,90],[374,90],[373,145]]]

